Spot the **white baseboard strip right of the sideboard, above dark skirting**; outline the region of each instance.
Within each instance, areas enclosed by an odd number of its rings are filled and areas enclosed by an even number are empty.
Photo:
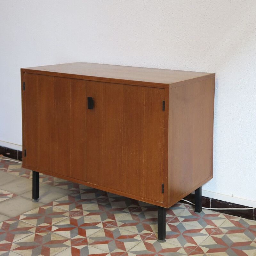
[[[221,201],[226,201],[234,204],[241,204],[244,206],[249,206],[249,207],[256,207],[256,201],[251,201],[239,197],[234,197],[234,196],[228,196],[228,195],[223,195],[219,193],[215,193],[212,191],[207,191],[202,189],[202,196],[218,199]]]

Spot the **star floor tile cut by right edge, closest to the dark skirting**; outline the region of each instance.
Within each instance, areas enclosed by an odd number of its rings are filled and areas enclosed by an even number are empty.
[[[216,230],[222,234],[256,241],[256,221],[231,216]]]

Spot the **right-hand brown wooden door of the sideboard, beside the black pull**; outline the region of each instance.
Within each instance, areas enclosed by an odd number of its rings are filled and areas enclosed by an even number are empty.
[[[87,182],[163,201],[164,89],[88,81]]]

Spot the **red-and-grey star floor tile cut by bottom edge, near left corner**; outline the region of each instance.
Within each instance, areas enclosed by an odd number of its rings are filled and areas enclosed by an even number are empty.
[[[27,236],[12,244],[11,251],[23,256],[53,256],[70,246],[70,239],[52,232]]]

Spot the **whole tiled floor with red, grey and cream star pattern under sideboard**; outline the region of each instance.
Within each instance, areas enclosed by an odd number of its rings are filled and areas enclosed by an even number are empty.
[[[157,207],[40,175],[0,160],[1,256],[256,255],[256,221],[178,203],[167,210],[166,242],[157,241]]]

